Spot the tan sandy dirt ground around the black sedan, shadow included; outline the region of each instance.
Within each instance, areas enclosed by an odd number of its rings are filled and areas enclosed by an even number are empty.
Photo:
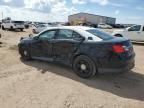
[[[20,59],[24,32],[0,31],[0,108],[144,108],[144,44],[131,72],[79,78],[60,64]]]

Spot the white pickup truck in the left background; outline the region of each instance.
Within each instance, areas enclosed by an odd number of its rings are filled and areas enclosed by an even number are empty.
[[[16,30],[19,29],[23,31],[24,29],[24,21],[12,21],[12,20],[4,20],[2,22],[2,29],[8,29],[8,30]]]

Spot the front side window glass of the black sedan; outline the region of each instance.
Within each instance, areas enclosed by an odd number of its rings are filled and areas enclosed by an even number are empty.
[[[54,38],[56,31],[52,30],[52,31],[46,31],[42,34],[40,34],[39,39],[40,40],[50,40],[52,38]]]

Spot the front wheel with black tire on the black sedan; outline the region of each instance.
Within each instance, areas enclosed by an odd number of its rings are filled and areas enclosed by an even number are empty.
[[[19,52],[23,60],[26,60],[26,61],[31,60],[31,55],[28,50],[20,48]]]

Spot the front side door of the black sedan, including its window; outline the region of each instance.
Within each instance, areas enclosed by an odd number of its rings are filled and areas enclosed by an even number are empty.
[[[52,40],[56,34],[56,30],[48,30],[41,33],[31,45],[31,56],[45,57],[52,56]]]

